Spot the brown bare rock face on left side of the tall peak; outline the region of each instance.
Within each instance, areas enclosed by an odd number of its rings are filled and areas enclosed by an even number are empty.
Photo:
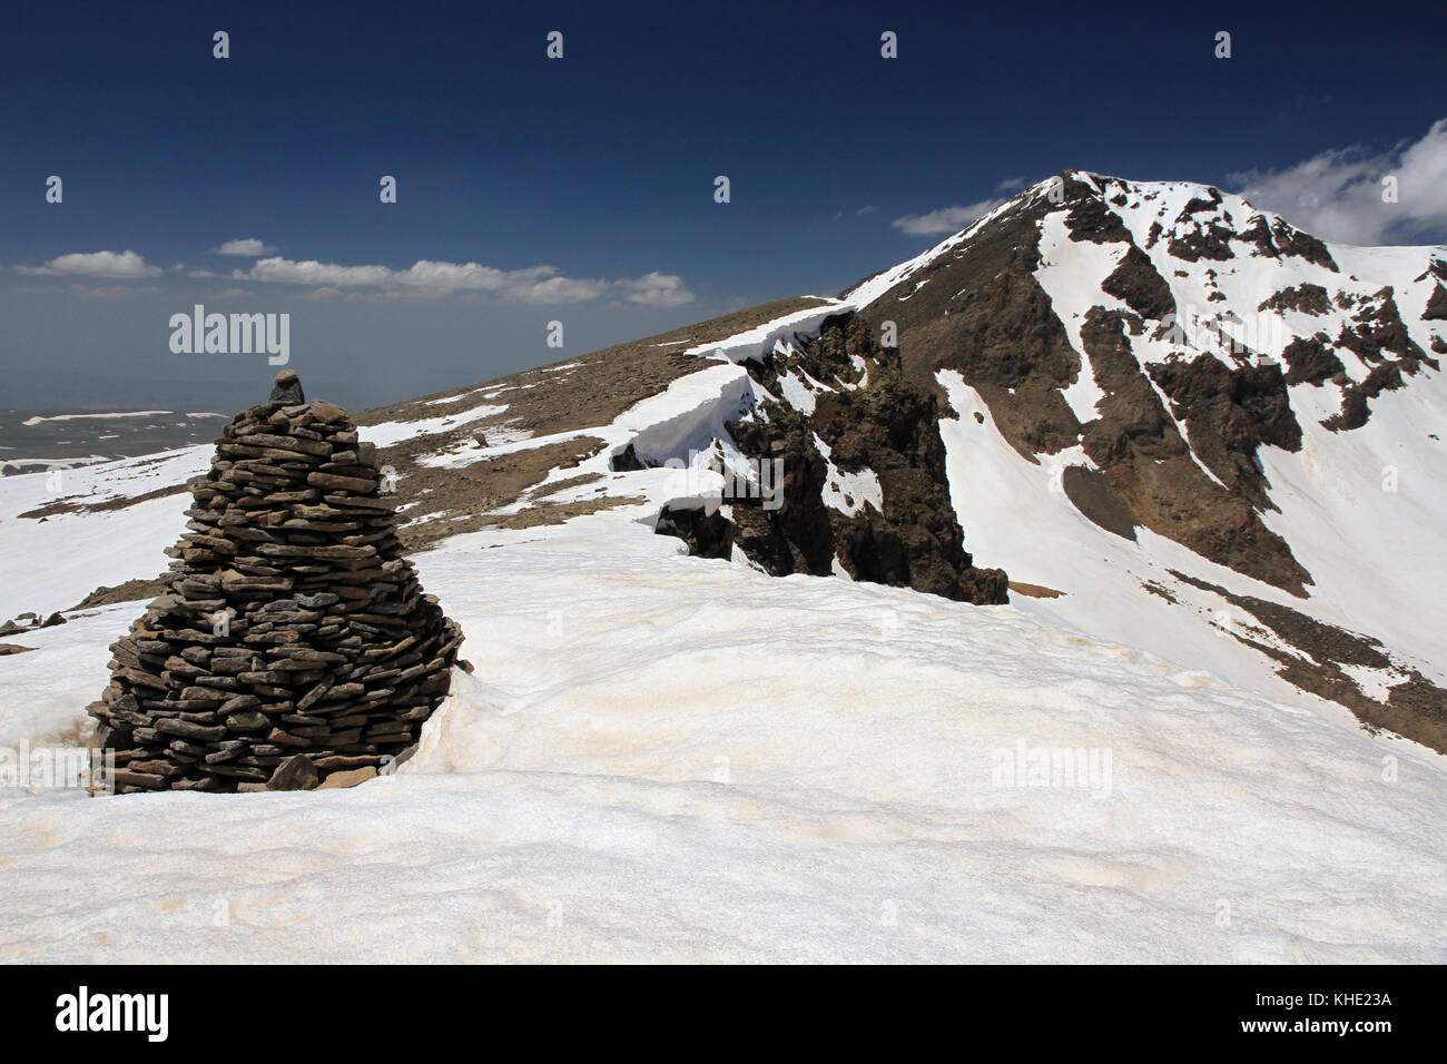
[[[1260,443],[1299,447],[1279,368],[1257,371],[1244,358],[1207,356],[1162,363],[1147,375],[1133,345],[1169,329],[1163,323],[1176,314],[1171,288],[1100,190],[1071,172],[1059,180],[1059,203],[1042,197],[1003,214],[961,250],[912,275],[907,301],[886,297],[861,316],[874,327],[897,321],[904,373],[920,387],[933,388],[941,369],[958,372],[1030,462],[1081,446],[1098,472],[1072,475],[1066,494],[1085,517],[1127,539],[1133,527],[1150,528],[1302,595],[1311,576],[1260,520],[1269,499],[1255,466]],[[1218,208],[1211,195],[1191,200],[1171,229],[1160,230],[1171,235],[1171,255],[1184,262],[1234,256],[1234,233]],[[1036,278],[1040,227],[1058,210],[1065,211],[1071,240],[1121,248],[1101,284],[1103,305],[1090,308],[1081,326],[1088,372],[1104,392],[1087,424],[1064,398],[1087,369]],[[1311,253],[1311,243],[1292,233],[1263,223],[1262,240],[1275,256],[1288,253],[1283,245],[1289,253]],[[1107,297],[1126,310],[1108,310]],[[1160,391],[1175,400],[1176,415],[1163,407]]]

